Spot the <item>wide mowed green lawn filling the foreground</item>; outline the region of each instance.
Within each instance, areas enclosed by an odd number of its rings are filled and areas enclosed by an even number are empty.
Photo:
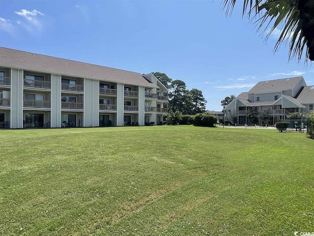
[[[0,130],[0,235],[314,231],[314,141],[270,129]]]

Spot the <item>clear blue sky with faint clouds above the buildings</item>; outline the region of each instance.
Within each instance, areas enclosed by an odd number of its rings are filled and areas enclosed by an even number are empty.
[[[200,89],[208,110],[257,82],[303,76],[314,67],[292,60],[288,46],[267,43],[219,0],[0,0],[0,46],[139,73],[162,72]]]

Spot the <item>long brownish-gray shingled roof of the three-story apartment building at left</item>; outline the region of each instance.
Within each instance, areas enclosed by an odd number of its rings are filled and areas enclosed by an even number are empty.
[[[0,47],[0,66],[157,88],[140,73]]]

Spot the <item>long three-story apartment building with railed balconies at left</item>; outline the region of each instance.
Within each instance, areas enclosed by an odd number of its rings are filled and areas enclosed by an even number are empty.
[[[0,127],[162,124],[167,89],[153,74],[0,47]]]

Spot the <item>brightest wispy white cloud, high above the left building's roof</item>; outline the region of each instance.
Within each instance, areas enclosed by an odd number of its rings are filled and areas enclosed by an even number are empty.
[[[17,15],[22,16],[26,19],[26,22],[18,21],[19,25],[22,25],[26,30],[33,31],[34,29],[41,29],[42,24],[39,21],[40,16],[44,16],[40,11],[32,10],[28,11],[26,9],[22,9],[21,11],[14,11]]]

